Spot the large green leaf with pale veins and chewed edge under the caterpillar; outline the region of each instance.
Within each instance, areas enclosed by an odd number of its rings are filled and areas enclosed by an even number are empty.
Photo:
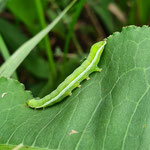
[[[150,28],[124,28],[107,39],[103,71],[44,110],[26,107],[29,92],[0,78],[0,149],[149,150],[149,58]]]

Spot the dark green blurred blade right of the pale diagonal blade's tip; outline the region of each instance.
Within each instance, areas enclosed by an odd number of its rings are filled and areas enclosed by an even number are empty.
[[[66,56],[67,56],[67,53],[68,53],[68,47],[69,47],[69,42],[70,42],[70,39],[72,37],[72,34],[73,34],[73,30],[74,30],[74,26],[78,20],[78,17],[81,13],[81,10],[84,6],[84,3],[85,3],[86,0],[80,0],[78,2],[78,4],[76,5],[76,11],[74,13],[74,16],[73,16],[73,19],[72,19],[72,22],[70,24],[70,27],[69,27],[69,32],[67,34],[67,37],[66,37],[66,42],[65,42],[65,46],[64,46],[64,57],[63,57],[63,61],[65,62],[66,60]]]

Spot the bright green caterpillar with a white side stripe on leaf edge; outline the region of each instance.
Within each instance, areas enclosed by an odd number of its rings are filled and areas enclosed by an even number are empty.
[[[31,99],[27,101],[27,105],[32,108],[44,108],[60,102],[68,95],[72,95],[72,90],[76,87],[81,87],[80,82],[87,79],[89,80],[89,74],[94,71],[101,71],[97,64],[100,60],[100,56],[103,52],[106,40],[95,43],[90,50],[88,58],[81,64],[80,67],[74,70],[56,90],[49,95],[43,97],[40,100]]]

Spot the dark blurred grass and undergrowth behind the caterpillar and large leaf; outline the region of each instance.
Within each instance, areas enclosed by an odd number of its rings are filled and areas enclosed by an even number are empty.
[[[0,34],[9,53],[46,27],[69,2],[1,0]],[[149,24],[149,9],[149,0],[80,0],[24,60],[15,77],[34,96],[46,95],[80,65],[93,43],[123,26]],[[1,64],[4,60],[1,55]]]

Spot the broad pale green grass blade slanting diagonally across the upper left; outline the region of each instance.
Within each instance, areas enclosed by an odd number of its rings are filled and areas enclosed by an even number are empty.
[[[0,76],[10,77],[32,49],[52,30],[76,1],[77,0],[72,1],[51,24],[17,49],[16,52],[1,66]]]

